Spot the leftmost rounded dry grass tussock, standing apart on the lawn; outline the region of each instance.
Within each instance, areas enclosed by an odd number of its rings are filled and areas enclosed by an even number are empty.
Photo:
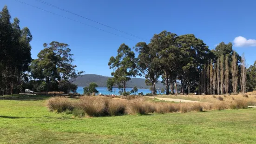
[[[47,101],[50,111],[63,112],[72,108],[71,102],[65,97],[54,97]]]

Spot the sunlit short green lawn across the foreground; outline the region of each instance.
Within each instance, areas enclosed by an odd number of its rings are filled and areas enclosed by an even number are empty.
[[[256,109],[72,118],[46,97],[0,100],[0,143],[253,144]]]

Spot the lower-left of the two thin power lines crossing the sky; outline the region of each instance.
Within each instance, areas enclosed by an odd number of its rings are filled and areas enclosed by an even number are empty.
[[[26,5],[28,5],[28,6],[31,6],[31,7],[35,7],[35,6],[33,6],[33,5],[30,5],[30,4],[27,4],[27,3],[25,3],[25,2],[22,2],[22,1],[20,1],[20,0],[16,0],[16,1],[18,1],[18,2],[20,2],[20,3],[23,3],[23,4],[26,4]],[[47,10],[42,9],[42,8],[39,8],[39,7],[35,7],[35,8],[40,9],[40,10],[45,11],[45,12],[48,12],[48,13],[52,13],[52,14],[58,15],[58,16],[60,16],[60,17],[66,18],[66,19],[68,19],[68,20],[72,20],[72,21],[75,21],[75,22],[79,22],[79,23],[84,24],[84,25],[86,25],[86,26],[91,26],[91,25],[85,24],[85,23],[83,23],[83,22],[70,19],[70,18],[68,18],[68,17],[65,17],[65,16],[59,15],[59,14],[57,14],[57,13],[53,13],[53,12],[47,11]],[[104,29],[95,27],[95,26],[91,26],[91,27],[96,28],[96,29],[101,30],[101,31],[104,31],[104,32],[107,32],[107,33],[111,33],[111,34],[116,35],[116,36],[118,36],[118,37],[122,37],[122,38],[125,38],[125,39],[130,39],[130,38],[126,38],[126,37],[124,37],[124,36],[121,36],[121,35],[118,35],[118,34],[115,34],[115,33],[109,32],[109,31],[106,31],[106,30],[104,30]],[[133,39],[130,39],[130,40],[135,41],[135,40],[133,40]]]

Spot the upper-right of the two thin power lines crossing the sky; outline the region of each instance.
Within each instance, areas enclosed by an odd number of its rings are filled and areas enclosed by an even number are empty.
[[[98,24],[100,24],[100,25],[103,25],[103,26],[112,28],[112,29],[114,29],[114,30],[116,30],[116,31],[119,31],[119,32],[121,32],[121,33],[128,34],[128,35],[130,35],[130,36],[132,36],[132,37],[135,37],[135,38],[138,38],[138,39],[142,39],[142,38],[140,38],[140,37],[138,37],[138,36],[136,36],[136,35],[133,35],[133,34],[131,34],[131,33],[124,32],[124,31],[119,30],[119,29],[117,29],[117,28],[114,28],[114,27],[112,27],[112,26],[108,26],[108,25],[105,25],[105,24],[100,23],[100,22],[98,22],[98,21],[95,21],[95,20],[86,18],[86,17],[84,17],[84,16],[81,16],[81,15],[79,15],[79,14],[77,14],[77,13],[70,12],[70,11],[68,11],[68,10],[66,10],[66,9],[63,9],[63,8],[54,6],[54,5],[52,5],[52,4],[50,4],[50,3],[47,3],[47,2],[45,2],[45,1],[43,1],[43,0],[36,0],[36,1],[41,2],[41,3],[43,3],[43,4],[46,4],[46,5],[50,6],[50,7],[55,7],[55,8],[57,8],[57,9],[59,9],[59,10],[65,11],[65,12],[67,12],[67,13],[71,13],[71,14],[73,14],[73,15],[79,16],[79,17],[84,18],[84,19],[86,19],[86,20],[91,20],[91,21],[93,21],[93,22],[95,22],[95,23],[98,23]],[[147,40],[145,40],[145,39],[142,39],[142,40],[147,41]]]

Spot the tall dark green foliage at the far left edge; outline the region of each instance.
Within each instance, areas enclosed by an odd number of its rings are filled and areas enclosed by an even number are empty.
[[[28,81],[28,65],[31,58],[32,35],[27,27],[20,29],[20,20],[13,19],[4,6],[0,12],[0,89],[5,87],[10,93],[20,92]]]

